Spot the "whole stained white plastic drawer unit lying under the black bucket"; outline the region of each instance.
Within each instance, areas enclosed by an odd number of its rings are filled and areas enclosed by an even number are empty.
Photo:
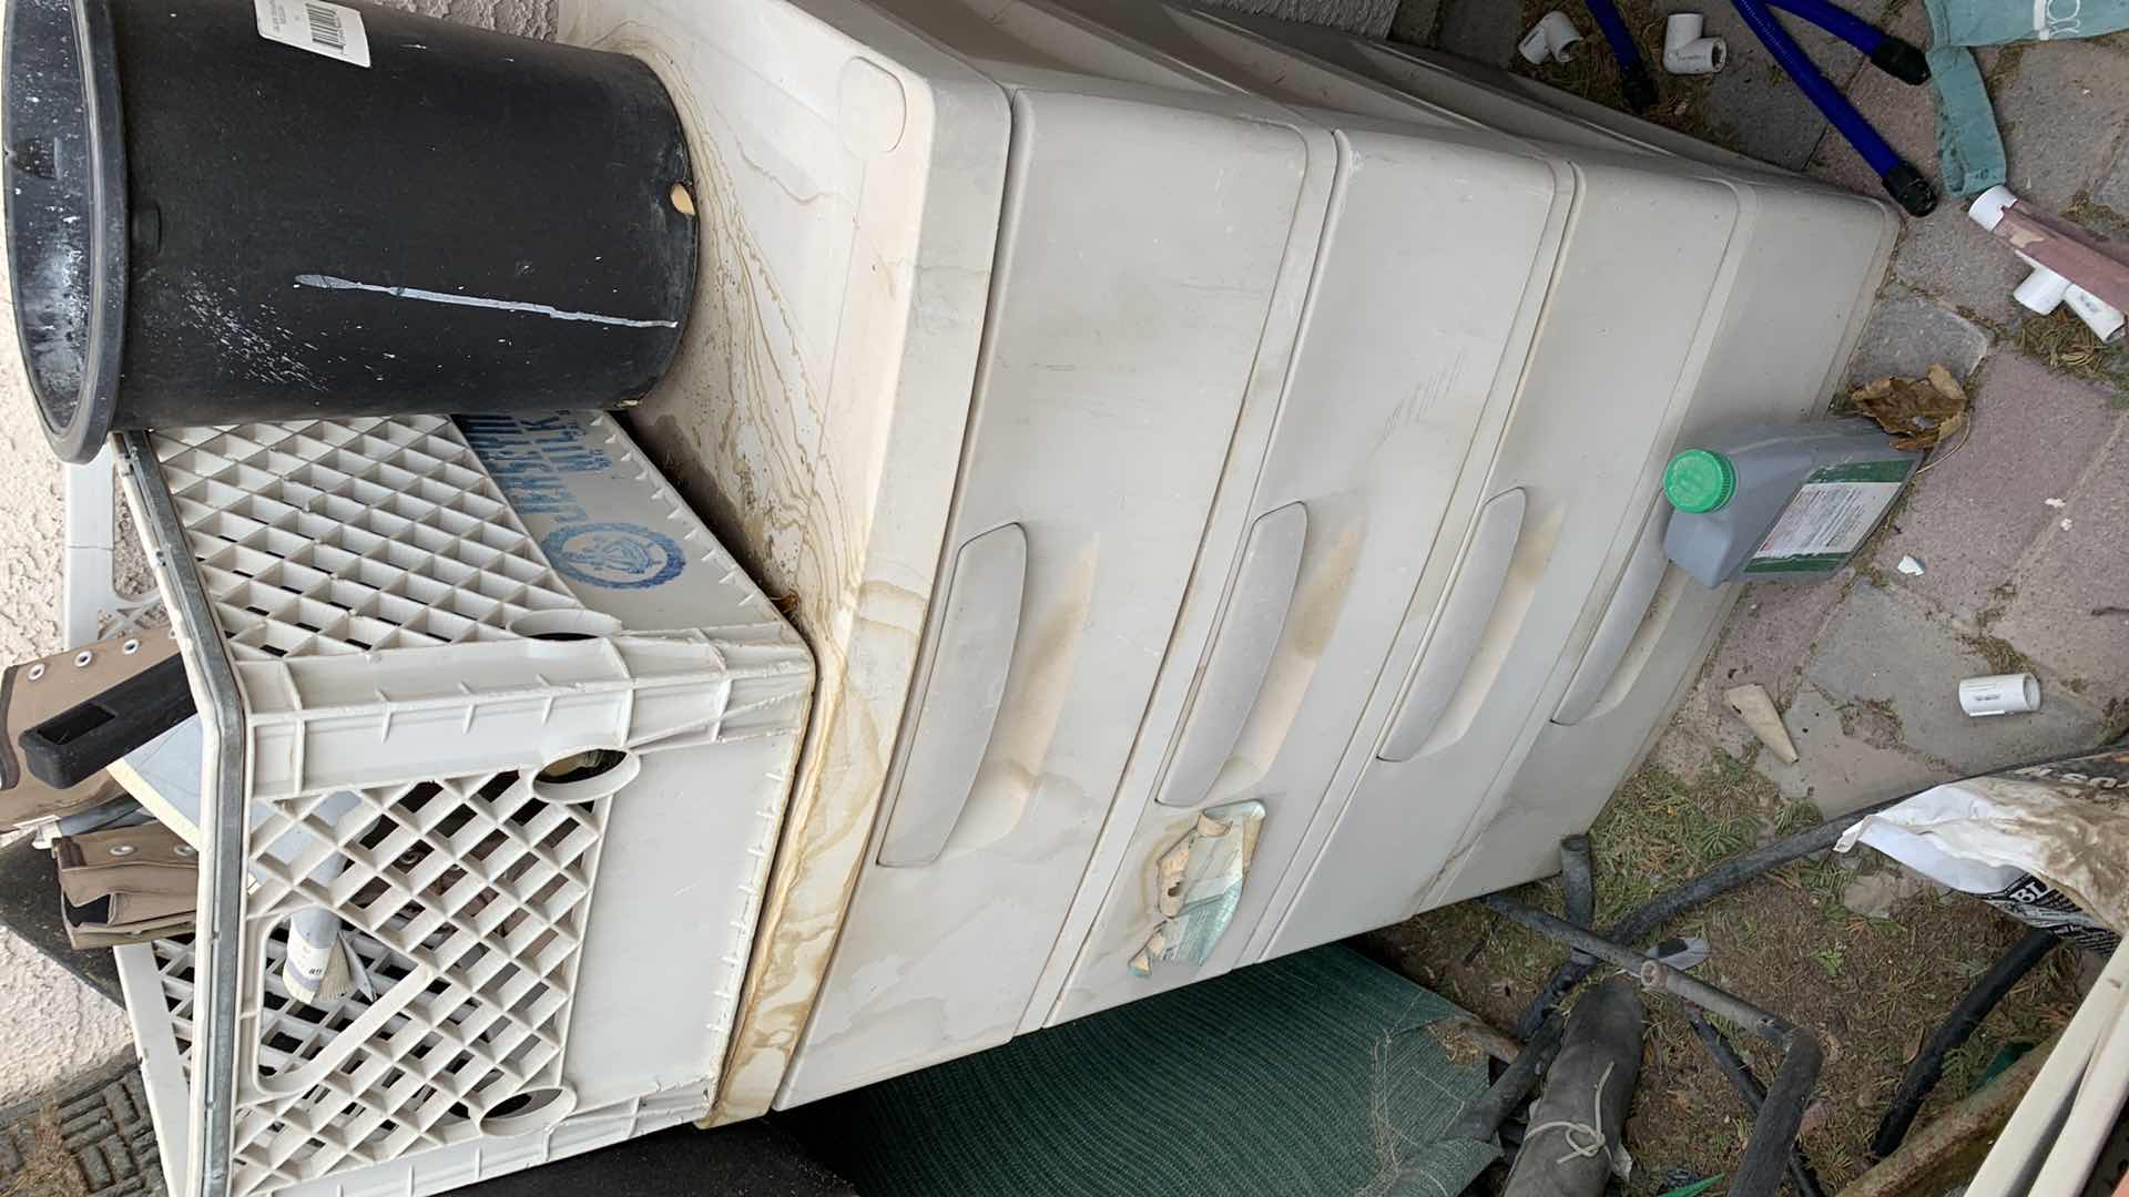
[[[690,124],[717,283],[639,417],[822,662],[724,1118],[1550,871],[1727,603],[1663,462],[1820,407],[1895,232],[1162,0],[562,28]]]

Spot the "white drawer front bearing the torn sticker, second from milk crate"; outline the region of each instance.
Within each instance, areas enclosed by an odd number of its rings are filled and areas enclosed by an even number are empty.
[[[1363,726],[1369,692],[1443,537],[1450,552],[1514,398],[1565,224],[1537,158],[1350,130],[1250,535],[1209,643],[1177,650],[1179,726],[1148,724],[1118,799],[1135,820],[1052,1020],[1218,975],[1239,961]],[[1429,211],[1433,219],[1414,219]],[[1416,285],[1426,279],[1454,285]],[[1207,550],[1209,554],[1209,550]],[[1377,720],[1380,726],[1380,720]],[[1152,801],[1148,801],[1148,797]],[[1265,807],[1248,884],[1203,961],[1126,965],[1162,924],[1158,858],[1224,803]],[[1103,884],[1105,873],[1113,882]],[[1030,1018],[1035,1012],[1030,1012]]]

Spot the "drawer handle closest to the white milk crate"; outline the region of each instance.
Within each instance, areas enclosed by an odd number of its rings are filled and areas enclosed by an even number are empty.
[[[879,863],[890,869],[937,860],[969,805],[1013,669],[1026,581],[1028,537],[1020,524],[992,528],[954,556],[939,647],[879,843]]]

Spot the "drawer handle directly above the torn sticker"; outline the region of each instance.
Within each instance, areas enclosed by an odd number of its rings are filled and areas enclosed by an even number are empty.
[[[1307,532],[1309,511],[1301,503],[1269,511],[1250,528],[1235,594],[1220,618],[1211,660],[1199,679],[1169,780],[1160,788],[1162,805],[1194,807],[1205,801],[1226,758],[1235,754],[1241,724],[1256,707],[1256,692],[1265,688],[1271,656],[1286,633]]]

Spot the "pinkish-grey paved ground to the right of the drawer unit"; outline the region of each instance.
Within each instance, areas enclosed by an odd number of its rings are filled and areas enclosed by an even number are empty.
[[[1846,6],[1916,45],[1929,40],[1920,0]],[[1663,81],[1658,109],[1671,124],[1882,194],[1729,4],[1650,9],[1652,17],[1703,11],[1731,47],[1729,68],[1712,81]],[[1590,30],[1580,4],[1567,11]],[[1397,17],[1401,34],[1495,66],[1509,66],[1520,23],[1520,9],[1499,0],[1407,0]],[[1810,26],[1788,26],[1895,149],[1935,179],[1929,89],[1893,81]],[[1592,53],[1605,51],[1592,45]],[[2129,217],[2110,207],[2129,209],[2129,34],[1982,51],[1980,62],[2012,190],[2103,234],[2129,232]],[[1759,771],[1827,814],[2125,731],[2129,394],[2050,368],[2020,345],[2035,341],[2010,300],[2023,277],[1952,196],[1933,215],[1905,219],[1850,375],[1920,375],[1944,362],[1974,394],[1971,443],[1940,454],[1876,552],[1837,577],[1746,588],[1656,760],[1695,775],[1714,750],[1744,756],[1752,737],[1720,692],[1748,682],[1773,692],[1801,750],[1797,765],[1761,754]],[[2120,349],[2101,364],[2114,379],[2129,368]],[[1922,575],[1899,573],[1905,556]],[[2012,662],[2040,675],[2044,707],[1997,720],[1961,714],[1957,682]]]

